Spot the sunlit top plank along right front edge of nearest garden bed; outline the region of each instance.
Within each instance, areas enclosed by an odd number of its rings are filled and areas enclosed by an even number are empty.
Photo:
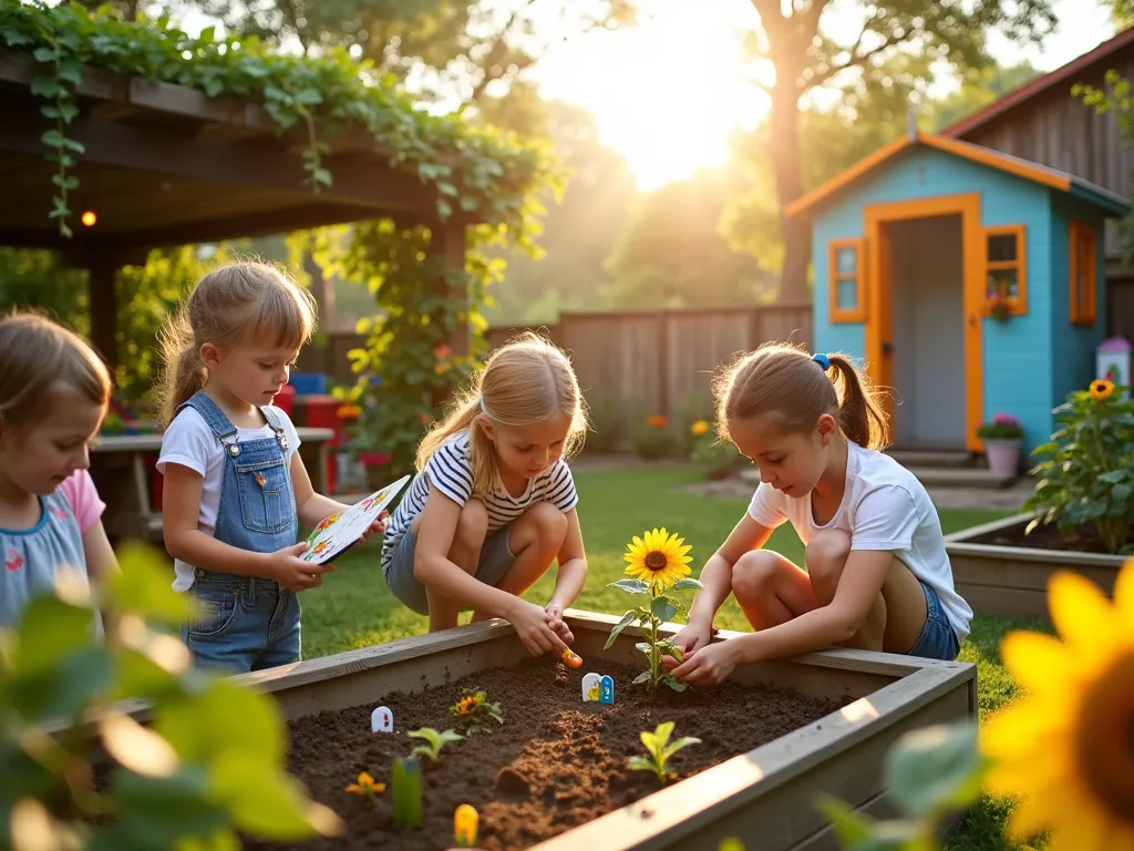
[[[787,735],[547,840],[531,851],[572,851],[587,846],[604,851],[667,848],[816,768],[824,760],[883,734],[950,691],[967,689],[966,714],[975,717],[975,666],[966,663],[922,666],[869,698],[860,698]],[[852,806],[881,792],[881,789],[863,789],[863,798]]]

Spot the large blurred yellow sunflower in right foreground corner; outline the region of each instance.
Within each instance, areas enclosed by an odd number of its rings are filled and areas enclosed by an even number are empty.
[[[1048,585],[1059,633],[1009,633],[1005,666],[1026,690],[981,730],[987,786],[1019,795],[1008,833],[1048,831],[1051,851],[1134,848],[1134,559],[1115,601],[1061,571]]]

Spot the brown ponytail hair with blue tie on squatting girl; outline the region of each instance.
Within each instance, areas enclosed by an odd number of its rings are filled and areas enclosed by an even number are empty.
[[[889,444],[885,394],[841,352],[812,356],[794,344],[764,344],[718,377],[713,395],[725,438],[737,420],[761,416],[784,431],[810,431],[831,414],[848,440],[868,449]]]

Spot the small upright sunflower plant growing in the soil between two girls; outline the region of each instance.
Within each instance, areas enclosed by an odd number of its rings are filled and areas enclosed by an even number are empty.
[[[685,620],[686,615],[685,607],[667,596],[667,590],[687,591],[702,587],[700,581],[688,575],[688,551],[689,547],[685,545],[684,538],[670,534],[665,529],[646,532],[644,538],[634,536],[624,556],[628,562],[626,578],[610,583],[628,593],[644,593],[650,598],[649,606],[636,606],[623,615],[623,620],[610,631],[604,648],[609,650],[618,633],[635,621],[642,624],[650,640],[640,641],[634,647],[646,655],[650,668],[635,677],[635,684],[648,682],[650,688],[657,689],[666,683],[674,691],[685,691],[685,683],[675,680],[661,665],[661,657],[666,654],[683,662],[682,651],[672,642],[659,640],[658,627],[669,621]]]

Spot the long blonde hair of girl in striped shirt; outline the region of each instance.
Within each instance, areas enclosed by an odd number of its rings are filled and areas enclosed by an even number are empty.
[[[416,466],[423,470],[449,438],[468,432],[473,464],[473,495],[491,494],[500,481],[496,447],[480,421],[524,428],[556,419],[570,421],[564,457],[583,445],[587,418],[583,394],[570,361],[553,344],[527,331],[497,348],[458,393],[449,412],[425,432],[417,446]]]

